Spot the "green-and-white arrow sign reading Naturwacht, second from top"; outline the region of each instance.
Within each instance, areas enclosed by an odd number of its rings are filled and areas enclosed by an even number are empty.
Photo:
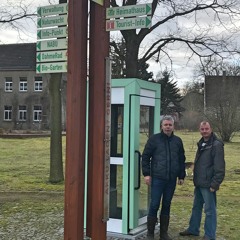
[[[38,28],[67,25],[67,15],[43,17],[37,20]]]

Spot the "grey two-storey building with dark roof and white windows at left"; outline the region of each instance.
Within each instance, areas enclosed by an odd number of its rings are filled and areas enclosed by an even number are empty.
[[[0,45],[0,128],[49,129],[49,74],[36,74],[36,44]]]

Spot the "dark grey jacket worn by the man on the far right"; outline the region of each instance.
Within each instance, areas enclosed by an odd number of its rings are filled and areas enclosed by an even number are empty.
[[[193,182],[196,187],[219,189],[225,176],[224,144],[212,133],[210,139],[198,142]]]

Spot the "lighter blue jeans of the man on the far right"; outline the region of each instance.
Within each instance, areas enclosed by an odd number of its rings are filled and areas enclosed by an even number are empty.
[[[216,192],[210,192],[209,188],[195,187],[188,231],[194,235],[199,235],[203,206],[206,215],[204,223],[205,237],[215,239],[217,228]]]

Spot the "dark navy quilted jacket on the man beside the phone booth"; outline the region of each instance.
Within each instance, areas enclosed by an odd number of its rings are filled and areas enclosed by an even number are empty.
[[[185,155],[181,138],[163,132],[151,136],[142,154],[142,172],[164,180],[185,178]]]

